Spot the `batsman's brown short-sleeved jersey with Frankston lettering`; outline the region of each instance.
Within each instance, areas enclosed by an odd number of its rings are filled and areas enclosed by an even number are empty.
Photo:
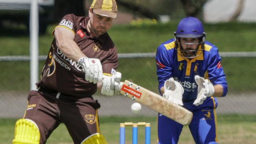
[[[89,17],[65,15],[57,27],[67,28],[75,35],[74,41],[89,58],[100,59],[103,73],[111,74],[117,69],[117,50],[108,33],[91,37],[87,31]],[[43,67],[40,81],[36,84],[44,90],[61,92],[73,96],[92,96],[97,86],[85,81],[82,66],[66,57],[52,41],[48,57]]]

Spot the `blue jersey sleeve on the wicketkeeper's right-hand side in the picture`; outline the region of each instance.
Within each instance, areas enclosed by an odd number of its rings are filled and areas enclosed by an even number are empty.
[[[206,51],[206,54],[208,52]],[[222,85],[223,96],[226,96],[228,91],[226,75],[224,74],[223,67],[221,66],[221,57],[216,46],[213,46],[209,52],[209,59],[207,61],[208,78],[213,85]]]

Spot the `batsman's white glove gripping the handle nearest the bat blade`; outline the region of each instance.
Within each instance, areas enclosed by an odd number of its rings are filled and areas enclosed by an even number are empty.
[[[101,93],[106,96],[119,94],[122,86],[121,77],[122,74],[120,72],[115,72],[112,76],[103,75]]]

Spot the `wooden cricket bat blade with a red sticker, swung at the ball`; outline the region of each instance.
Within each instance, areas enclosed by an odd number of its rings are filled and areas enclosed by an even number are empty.
[[[161,113],[184,126],[187,126],[192,120],[193,114],[184,107],[169,102],[159,94],[140,87],[128,80],[123,82],[120,94],[132,98],[136,102],[139,102],[150,109],[154,109],[158,113]]]

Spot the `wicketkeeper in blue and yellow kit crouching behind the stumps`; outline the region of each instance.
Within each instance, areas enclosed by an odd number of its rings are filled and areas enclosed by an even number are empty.
[[[158,88],[167,100],[193,113],[189,129],[196,144],[217,144],[216,97],[227,94],[218,48],[206,41],[200,20],[183,18],[174,39],[156,53]],[[178,144],[183,125],[158,114],[158,144]]]

